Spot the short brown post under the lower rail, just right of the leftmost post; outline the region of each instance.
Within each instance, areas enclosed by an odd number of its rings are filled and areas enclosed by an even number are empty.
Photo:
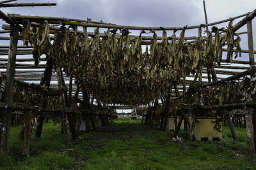
[[[26,156],[29,153],[29,138],[30,138],[30,129],[31,129],[31,112],[26,111],[25,118],[25,130],[24,130],[24,143],[22,155]]]

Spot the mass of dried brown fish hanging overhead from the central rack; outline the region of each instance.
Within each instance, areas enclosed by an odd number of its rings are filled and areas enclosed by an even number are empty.
[[[227,60],[232,62],[233,47],[240,52],[240,38],[232,30],[212,27],[207,39],[198,29],[195,43],[184,40],[186,27],[179,35],[167,37],[163,30],[162,40],[157,40],[154,31],[151,42],[142,48],[143,34],[130,36],[129,30],[108,29],[100,38],[95,29],[90,38],[86,27],[83,34],[77,27],[61,26],[56,31],[53,43],[49,36],[49,24],[39,27],[24,24],[21,33],[24,44],[33,45],[35,64],[42,54],[51,56],[54,65],[59,65],[67,75],[74,75],[76,84],[83,84],[86,91],[104,104],[148,104],[166,96],[173,82],[182,82],[182,77],[199,72],[200,67],[220,65],[222,47],[227,45]],[[234,36],[237,36],[234,40]],[[183,81],[184,82],[184,81]]]

